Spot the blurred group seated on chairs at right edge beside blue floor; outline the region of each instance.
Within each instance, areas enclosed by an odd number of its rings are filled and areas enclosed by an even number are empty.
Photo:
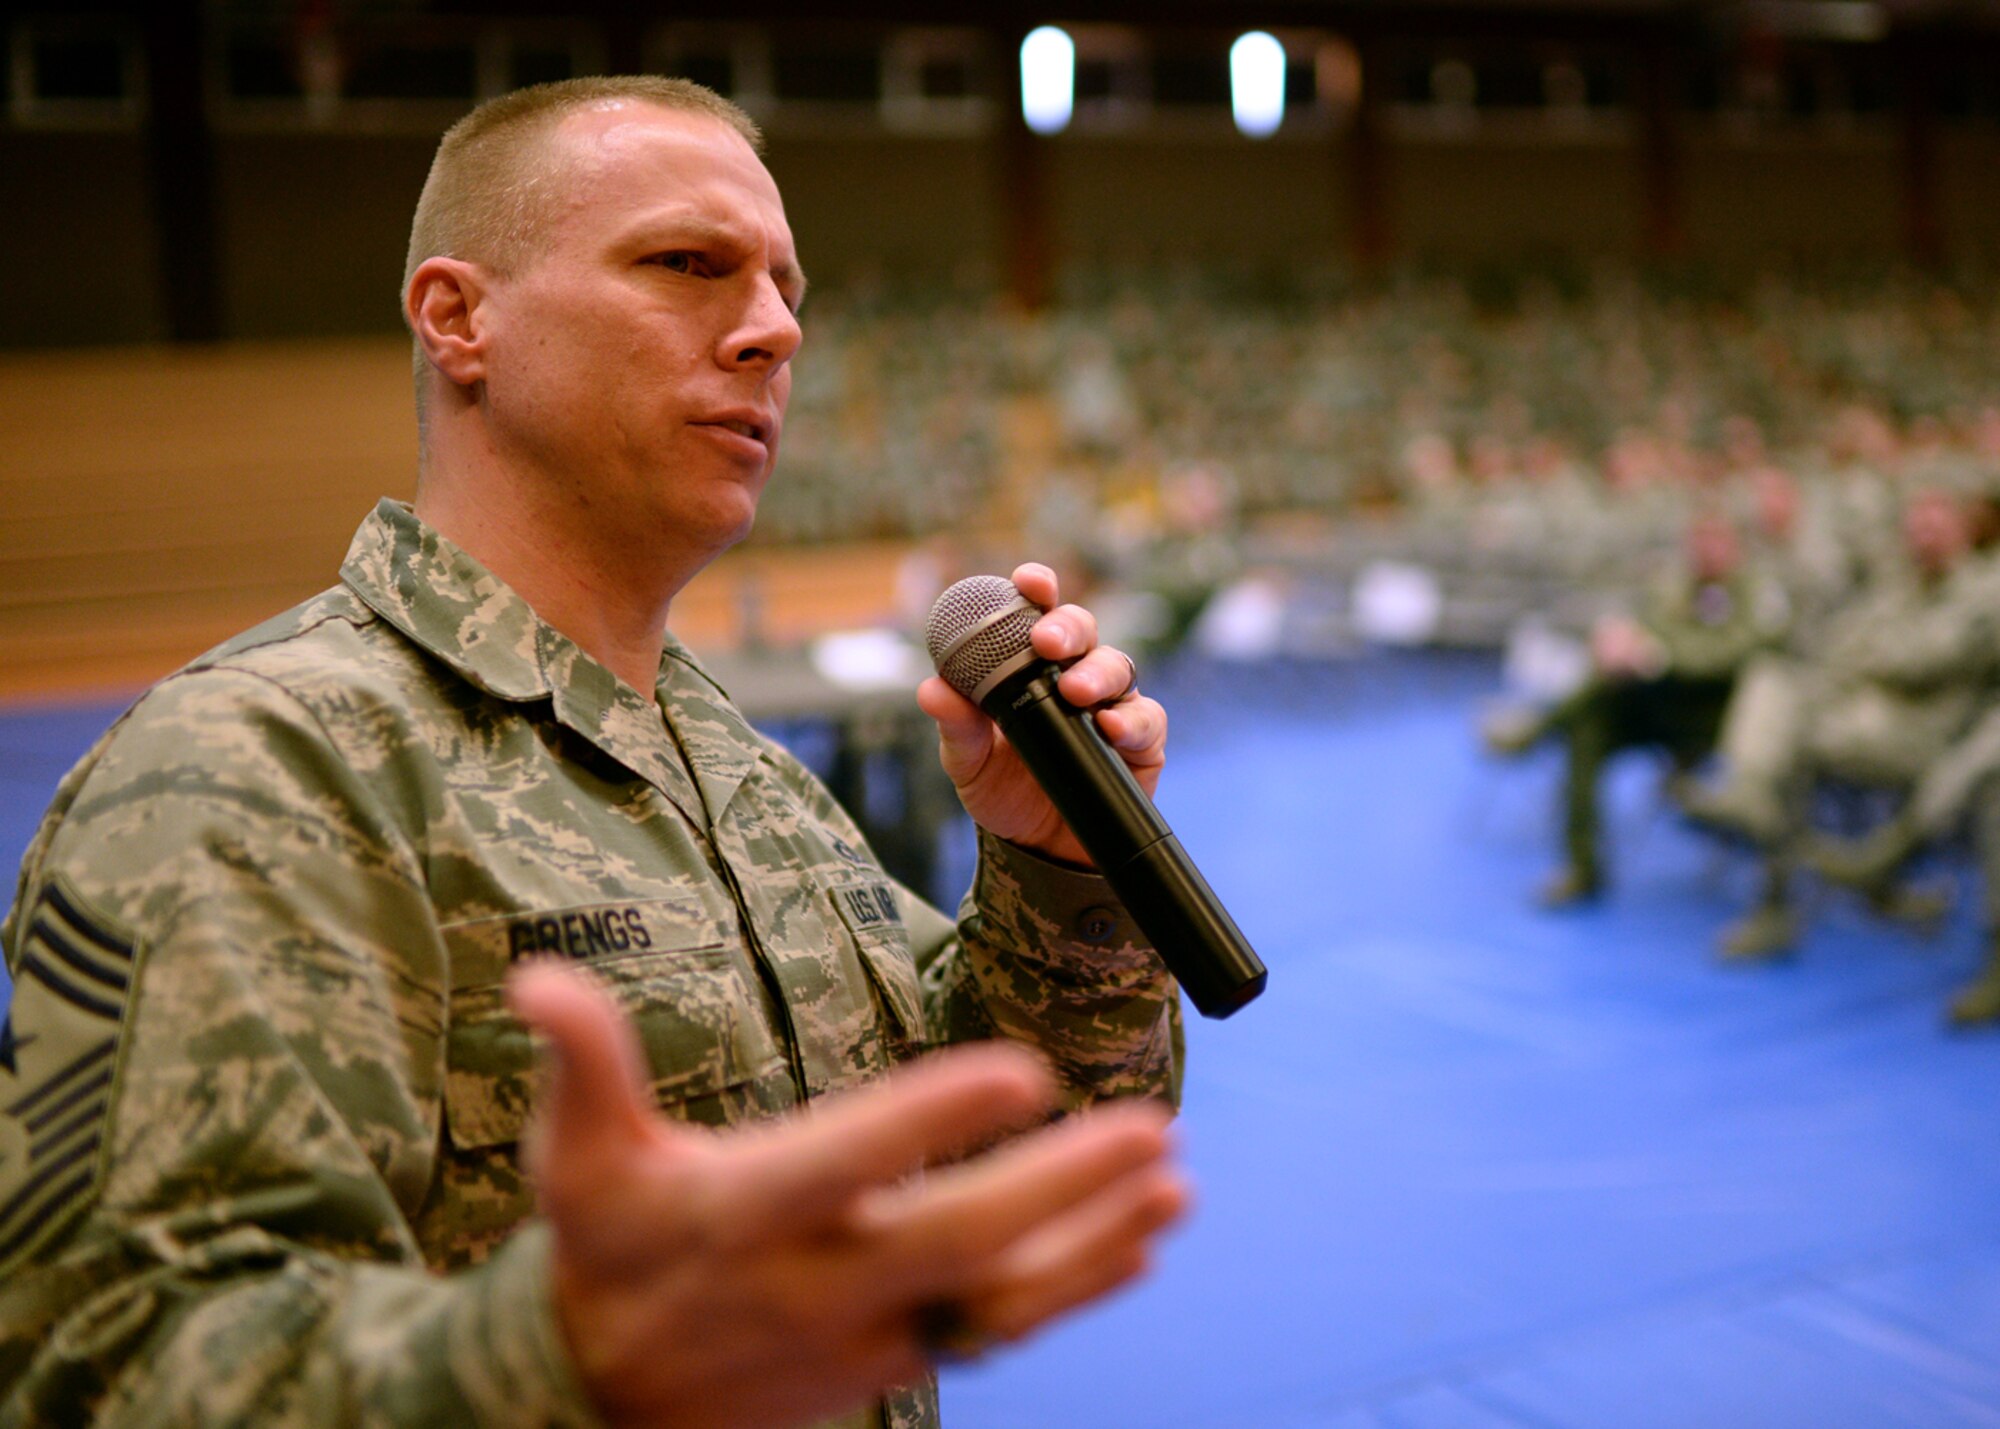
[[[1950,1017],[2000,1021],[2000,414],[1912,432],[1844,412],[1784,462],[1738,420],[1698,480],[1658,490],[1666,506],[1626,514],[1654,530],[1678,518],[1668,572],[1572,606],[1578,678],[1484,725],[1498,755],[1564,749],[1564,853],[1544,901],[1602,893],[1604,763],[1654,749],[1680,811],[1760,861],[1754,907],[1722,935],[1732,961],[1794,951],[1802,869],[1892,921],[1936,923],[1948,899],[1908,871],[1966,837],[1988,965]],[[1574,542],[1594,506],[1572,498],[1544,492],[1524,526],[1568,562],[1588,558]]]

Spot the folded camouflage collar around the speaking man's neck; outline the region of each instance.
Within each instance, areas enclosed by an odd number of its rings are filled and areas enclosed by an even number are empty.
[[[560,725],[654,785],[700,825],[720,815],[756,765],[756,735],[672,634],[658,688],[648,698],[542,620],[500,576],[404,502],[384,498],[368,514],[354,532],[340,578],[370,610],[466,682],[518,704],[548,700]],[[688,767],[662,717],[672,721]]]

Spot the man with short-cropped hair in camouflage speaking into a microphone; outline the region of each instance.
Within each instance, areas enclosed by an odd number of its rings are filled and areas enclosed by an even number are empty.
[[[800,340],[754,140],[674,80],[454,128],[414,510],[64,781],[4,927],[0,1423],[930,1425],[932,1357],[1178,1213],[1174,985],[992,725],[920,690],[954,927],[664,634]],[[1016,582],[1150,785],[1130,662]]]

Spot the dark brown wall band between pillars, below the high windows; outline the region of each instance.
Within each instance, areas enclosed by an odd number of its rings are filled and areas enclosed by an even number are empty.
[[[426,134],[224,134],[218,244],[234,338],[392,332]],[[1254,144],[1234,132],[1078,134],[1048,144],[1056,260],[1344,260],[1356,200],[1348,138]],[[770,166],[816,280],[996,272],[1000,180],[980,136],[778,134]],[[2000,128],[1944,128],[1948,258],[2000,254]],[[1638,256],[1628,138],[1404,138],[1384,150],[1396,252],[1508,260]],[[1686,258],[1718,268],[1892,260],[1902,244],[1894,126],[1734,136],[1690,126],[1680,160]],[[0,348],[162,336],[144,144],[136,132],[0,128]]]

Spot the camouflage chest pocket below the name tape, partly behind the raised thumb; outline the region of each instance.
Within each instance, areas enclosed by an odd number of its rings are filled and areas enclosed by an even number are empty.
[[[554,915],[560,919],[562,915]],[[652,921],[658,929],[660,921]],[[446,931],[450,939],[452,931]],[[490,941],[472,935],[462,941]],[[636,939],[634,939],[636,941]],[[762,1001],[740,953],[722,941],[630,947],[590,957],[584,967],[604,985],[638,1031],[652,1073],[652,1097],[668,1115],[722,1121],[722,1101],[784,1067]],[[534,1043],[506,1005],[506,959],[470,957],[454,947],[454,989],[444,1067],[444,1125],[460,1149],[520,1139],[534,1103]]]

